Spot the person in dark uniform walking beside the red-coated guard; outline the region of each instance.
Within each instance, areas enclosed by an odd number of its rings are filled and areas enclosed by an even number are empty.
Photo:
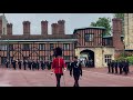
[[[82,76],[82,66],[81,63],[78,61],[78,57],[74,57],[74,62],[72,62],[71,64],[71,69],[70,69],[70,76],[74,77],[74,86],[73,87],[79,87],[79,78],[80,76]]]

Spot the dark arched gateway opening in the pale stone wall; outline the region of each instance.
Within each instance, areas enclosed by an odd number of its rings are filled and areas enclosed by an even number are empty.
[[[88,50],[88,49],[85,49],[85,50],[82,50],[81,52],[80,52],[80,58],[86,58],[86,59],[89,59],[89,61],[90,61],[90,68],[94,68],[95,67],[95,64],[94,64],[94,51],[92,51],[92,50]]]

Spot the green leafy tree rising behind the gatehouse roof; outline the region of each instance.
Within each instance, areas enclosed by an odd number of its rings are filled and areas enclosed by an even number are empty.
[[[111,19],[110,18],[99,18],[96,22],[91,22],[91,27],[104,27],[105,28],[105,34],[110,34],[111,32]]]

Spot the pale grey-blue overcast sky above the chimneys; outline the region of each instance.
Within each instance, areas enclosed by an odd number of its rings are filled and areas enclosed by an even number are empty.
[[[0,13],[1,16],[2,13]],[[31,22],[31,34],[41,34],[41,21],[49,21],[49,34],[51,24],[58,20],[65,20],[65,33],[72,34],[74,29],[90,27],[100,17],[113,18],[112,13],[4,13],[9,23],[13,24],[13,34],[23,33],[23,21]]]

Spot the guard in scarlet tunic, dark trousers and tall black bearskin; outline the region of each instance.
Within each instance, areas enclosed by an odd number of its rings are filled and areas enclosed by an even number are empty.
[[[57,78],[57,87],[60,87],[60,80],[61,76],[63,76],[63,68],[66,70],[66,64],[63,60],[62,56],[62,49],[61,48],[55,48],[54,49],[54,59],[52,61],[52,73],[54,71],[55,78]]]

